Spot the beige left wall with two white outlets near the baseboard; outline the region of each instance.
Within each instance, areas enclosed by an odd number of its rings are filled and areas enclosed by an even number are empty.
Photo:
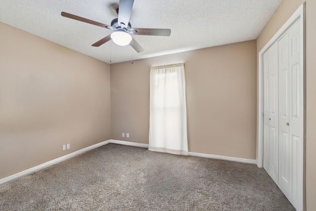
[[[0,179],[110,139],[110,109],[109,64],[0,23]]]

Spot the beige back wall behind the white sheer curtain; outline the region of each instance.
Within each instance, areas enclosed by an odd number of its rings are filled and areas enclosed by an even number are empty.
[[[189,151],[255,159],[256,41],[111,64],[111,138],[148,143],[150,67],[180,62]]]

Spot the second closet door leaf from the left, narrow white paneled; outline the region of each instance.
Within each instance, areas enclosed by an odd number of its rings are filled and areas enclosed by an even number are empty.
[[[278,62],[277,43],[269,49],[269,175],[278,183]]]

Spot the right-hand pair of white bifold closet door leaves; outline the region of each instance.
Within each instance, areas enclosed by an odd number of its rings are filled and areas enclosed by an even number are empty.
[[[278,42],[279,183],[297,210],[303,207],[303,70],[301,26],[297,22]]]

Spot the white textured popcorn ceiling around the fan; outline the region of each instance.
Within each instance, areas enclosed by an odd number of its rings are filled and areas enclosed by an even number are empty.
[[[133,28],[171,29],[170,37],[133,36],[145,49],[107,42],[112,31],[61,16],[71,13],[107,25],[119,0],[0,0],[0,22],[96,59],[118,63],[255,40],[282,0],[135,0]],[[111,56],[112,55],[112,56]]]

